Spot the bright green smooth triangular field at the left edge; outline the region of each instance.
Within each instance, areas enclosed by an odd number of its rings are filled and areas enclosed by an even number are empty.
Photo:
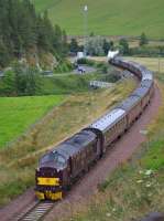
[[[0,97],[0,147],[20,136],[63,98],[62,95]]]

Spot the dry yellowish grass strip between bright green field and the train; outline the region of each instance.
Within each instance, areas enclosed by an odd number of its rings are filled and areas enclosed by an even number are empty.
[[[34,169],[43,152],[100,116],[107,108],[127,96],[134,86],[133,81],[123,81],[111,90],[76,93],[61,106],[54,107],[18,141],[1,149],[0,204],[6,204],[34,185]]]

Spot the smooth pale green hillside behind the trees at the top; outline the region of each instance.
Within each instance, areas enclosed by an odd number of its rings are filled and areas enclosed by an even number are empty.
[[[164,38],[164,0],[32,0],[48,10],[68,34],[83,34],[83,6],[88,4],[88,30],[105,35]]]

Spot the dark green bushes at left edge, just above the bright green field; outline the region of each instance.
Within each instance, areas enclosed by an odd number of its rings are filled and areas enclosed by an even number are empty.
[[[40,93],[41,75],[34,67],[14,63],[13,69],[4,73],[0,82],[1,96],[24,96]]]

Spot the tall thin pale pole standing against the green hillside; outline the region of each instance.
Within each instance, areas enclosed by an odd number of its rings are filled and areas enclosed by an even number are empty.
[[[87,56],[88,6],[84,7],[84,55]]]

